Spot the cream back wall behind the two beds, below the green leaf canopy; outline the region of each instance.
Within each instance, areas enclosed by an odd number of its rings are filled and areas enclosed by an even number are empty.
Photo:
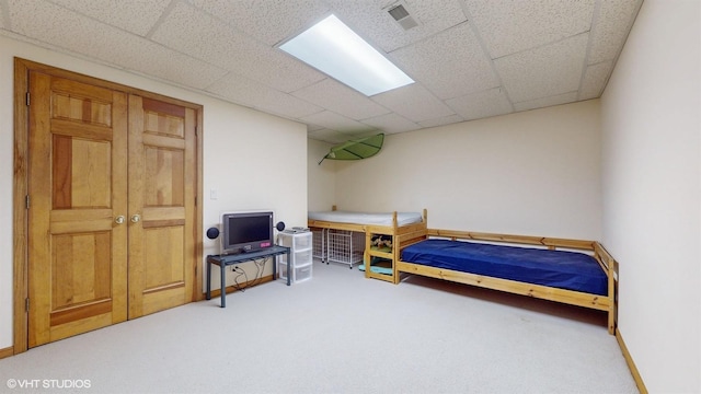
[[[428,210],[432,228],[600,237],[599,101],[387,136],[336,164],[336,205]],[[325,164],[325,162],[324,162]]]

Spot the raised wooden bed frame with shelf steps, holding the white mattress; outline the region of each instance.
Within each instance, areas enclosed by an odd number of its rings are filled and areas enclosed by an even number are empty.
[[[336,206],[333,206],[332,210],[336,210]],[[374,273],[369,267],[365,269],[366,278],[375,278],[393,283],[399,282],[397,276],[397,262],[399,262],[399,251],[397,247],[397,241],[399,239],[412,240],[426,234],[427,212],[426,209],[422,212],[422,221],[420,223],[411,223],[406,225],[399,225],[397,221],[397,211],[392,212],[392,224],[378,225],[378,224],[354,224],[354,223],[338,223],[322,220],[308,220],[307,225],[310,229],[332,229],[332,230],[346,230],[365,233],[365,262],[370,262],[372,257],[380,257],[391,262],[392,274],[379,274]],[[382,252],[371,246],[371,239],[375,235],[391,235],[394,247],[391,252]]]

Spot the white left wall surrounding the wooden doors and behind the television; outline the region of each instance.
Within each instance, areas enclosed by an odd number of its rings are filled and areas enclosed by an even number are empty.
[[[218,224],[220,213],[230,210],[269,209],[276,220],[306,223],[306,126],[0,36],[0,201],[4,202],[0,205],[0,349],[13,343],[10,201],[14,56],[204,105],[205,229]],[[218,192],[217,199],[211,199],[211,189]],[[215,241],[205,237],[203,243],[205,254],[217,253]],[[264,275],[271,273],[267,264]],[[249,278],[254,274],[251,267]]]

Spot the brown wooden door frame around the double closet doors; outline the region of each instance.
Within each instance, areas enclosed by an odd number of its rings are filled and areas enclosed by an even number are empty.
[[[199,104],[188,103],[177,99],[172,99],[143,91],[140,89],[126,86],[115,82],[105,81],[99,78],[76,73],[68,70],[58,69],[51,66],[14,58],[14,175],[13,175],[13,354],[18,355],[27,350],[28,313],[26,311],[26,299],[28,296],[28,260],[27,260],[27,209],[26,196],[28,192],[28,106],[26,105],[28,92],[30,71],[38,71],[47,74],[71,79],[74,81],[89,83],[102,88],[107,88],[127,94],[136,94],[142,97],[164,101],[168,103],[193,108],[197,115],[195,132],[195,154],[197,155],[195,170],[196,176],[196,199],[195,199],[195,258],[193,267],[193,294],[192,300],[203,299],[202,289],[202,256],[203,256],[203,112]]]

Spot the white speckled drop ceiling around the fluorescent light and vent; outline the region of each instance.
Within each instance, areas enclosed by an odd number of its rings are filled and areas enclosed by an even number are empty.
[[[0,33],[303,123],[327,142],[599,97],[642,0],[0,0]],[[389,10],[402,5],[416,26]],[[416,82],[374,96],[276,46],[334,13]]]

